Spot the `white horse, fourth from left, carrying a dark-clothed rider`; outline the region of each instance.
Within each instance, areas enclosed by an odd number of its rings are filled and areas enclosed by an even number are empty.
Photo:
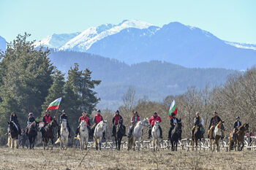
[[[67,150],[67,142],[69,139],[69,131],[67,129],[67,120],[63,119],[61,121],[61,131],[60,131],[60,137],[59,139],[55,142],[55,144],[60,142],[61,150]]]

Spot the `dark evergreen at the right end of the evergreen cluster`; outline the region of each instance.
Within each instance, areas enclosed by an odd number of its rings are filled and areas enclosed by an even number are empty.
[[[100,98],[94,92],[95,85],[99,85],[100,80],[91,80],[89,69],[79,71],[78,63],[68,72],[67,82],[64,86],[64,98],[61,107],[64,108],[71,120],[78,120],[81,113],[86,112],[91,115]],[[77,121],[70,122],[77,125]]]

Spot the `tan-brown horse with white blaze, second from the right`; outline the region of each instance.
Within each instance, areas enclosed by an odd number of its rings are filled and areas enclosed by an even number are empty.
[[[213,126],[211,126],[211,128],[213,128]],[[214,128],[214,133],[209,131],[210,148],[212,152],[215,150],[215,144],[217,146],[217,152],[220,151],[219,141],[222,137],[222,131],[225,131],[225,121],[222,120],[220,120],[217,126]],[[214,150],[212,149],[212,144],[214,144]]]

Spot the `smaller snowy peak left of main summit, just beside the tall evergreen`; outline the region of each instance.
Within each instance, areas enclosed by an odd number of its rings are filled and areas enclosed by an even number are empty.
[[[72,33],[72,34],[52,34],[47,36],[45,39],[40,40],[39,42],[35,42],[35,47],[42,45],[44,47],[49,48],[60,48],[70,39],[73,39],[75,36],[78,36],[80,32]]]

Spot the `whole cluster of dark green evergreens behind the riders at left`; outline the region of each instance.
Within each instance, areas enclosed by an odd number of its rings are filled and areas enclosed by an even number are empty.
[[[30,34],[18,35],[7,43],[1,53],[0,63],[0,139],[7,136],[7,121],[16,112],[21,127],[26,127],[29,112],[42,121],[50,102],[62,97],[61,109],[69,113],[70,120],[77,120],[84,110],[91,114],[100,98],[95,86],[100,80],[91,80],[89,69],[80,70],[78,63],[72,66],[67,77],[53,66],[48,55],[50,50],[35,49]],[[63,60],[63,59],[62,59]],[[57,112],[51,112],[56,115]],[[58,114],[57,114],[58,115]],[[70,121],[71,126],[76,121]]]

